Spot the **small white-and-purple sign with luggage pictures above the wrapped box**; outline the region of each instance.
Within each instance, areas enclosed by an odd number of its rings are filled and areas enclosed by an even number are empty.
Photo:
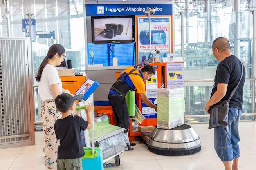
[[[166,64],[167,88],[184,87],[184,63]]]

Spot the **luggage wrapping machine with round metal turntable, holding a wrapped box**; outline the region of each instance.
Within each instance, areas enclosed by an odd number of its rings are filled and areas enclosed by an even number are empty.
[[[155,126],[152,132],[141,132],[148,150],[159,155],[190,155],[201,150],[200,137],[190,125],[184,124],[184,64],[150,63],[156,75],[146,81],[148,99],[157,104],[155,110],[148,109],[137,95],[137,104],[146,117],[140,126]],[[160,89],[160,87],[162,88]],[[155,93],[156,91],[156,93]],[[155,95],[150,95],[155,94]]]

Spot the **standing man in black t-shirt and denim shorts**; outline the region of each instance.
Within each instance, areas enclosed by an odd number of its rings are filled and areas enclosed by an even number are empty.
[[[239,59],[231,53],[229,41],[224,37],[218,37],[212,44],[213,55],[220,62],[214,79],[211,98],[205,104],[205,111],[209,114],[212,105],[227,100],[242,79],[229,102],[229,118],[227,126],[214,128],[214,148],[225,166],[225,170],[238,170],[240,141],[238,125],[242,114],[242,96],[245,83],[245,67]]]

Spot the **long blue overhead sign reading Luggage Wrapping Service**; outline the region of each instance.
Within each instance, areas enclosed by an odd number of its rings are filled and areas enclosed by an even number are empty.
[[[155,15],[173,15],[173,4],[86,4],[86,16],[145,15],[147,8],[156,7]]]

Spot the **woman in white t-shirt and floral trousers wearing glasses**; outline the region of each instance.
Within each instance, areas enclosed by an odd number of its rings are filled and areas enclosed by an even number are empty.
[[[59,143],[54,132],[54,124],[61,117],[61,112],[56,109],[54,99],[62,93],[62,83],[55,66],[63,62],[65,55],[66,51],[61,44],[53,44],[36,74],[36,81],[39,82],[39,94],[42,99],[41,121],[45,140],[46,170],[57,170]]]

